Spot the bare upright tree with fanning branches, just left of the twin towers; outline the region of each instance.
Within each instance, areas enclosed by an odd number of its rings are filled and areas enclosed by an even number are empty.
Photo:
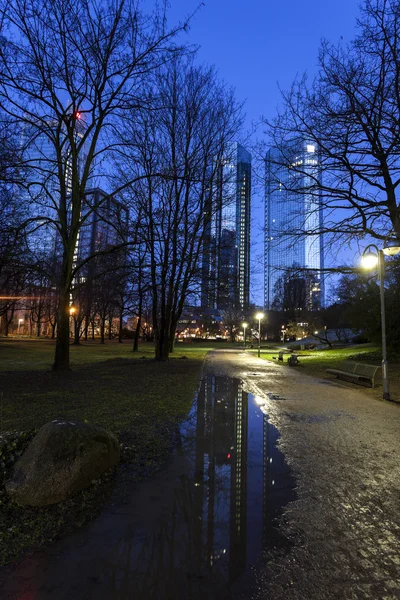
[[[166,360],[185,301],[200,281],[210,195],[241,116],[214,70],[194,66],[192,58],[160,69],[148,94],[156,96],[157,109],[136,115],[140,126],[127,131],[125,145],[146,176],[133,197],[150,266],[156,359]],[[130,162],[127,156],[124,172]]]

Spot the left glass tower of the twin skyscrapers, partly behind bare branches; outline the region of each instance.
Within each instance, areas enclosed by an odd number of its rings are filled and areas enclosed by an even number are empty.
[[[251,155],[231,143],[210,194],[203,247],[202,296],[205,308],[249,306]]]

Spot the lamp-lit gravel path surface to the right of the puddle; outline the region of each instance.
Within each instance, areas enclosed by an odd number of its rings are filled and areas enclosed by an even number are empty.
[[[400,406],[244,352],[212,352],[206,371],[267,398],[298,481],[281,524],[294,545],[256,570],[253,598],[400,598]]]

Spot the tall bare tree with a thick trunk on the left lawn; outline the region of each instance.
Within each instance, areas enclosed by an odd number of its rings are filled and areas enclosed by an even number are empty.
[[[163,14],[146,15],[140,5],[0,0],[0,108],[22,127],[26,226],[31,239],[53,231],[61,248],[57,371],[69,369],[68,305],[79,232],[98,208],[83,212],[85,190],[99,173],[110,188],[107,161],[116,151],[116,132],[128,109],[143,106],[149,73],[179,51],[172,39],[185,26],[166,30]]]

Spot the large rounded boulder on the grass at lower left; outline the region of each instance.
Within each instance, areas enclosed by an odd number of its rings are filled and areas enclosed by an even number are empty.
[[[83,490],[119,461],[112,434],[79,421],[46,423],[17,461],[6,491],[18,504],[46,506]]]

